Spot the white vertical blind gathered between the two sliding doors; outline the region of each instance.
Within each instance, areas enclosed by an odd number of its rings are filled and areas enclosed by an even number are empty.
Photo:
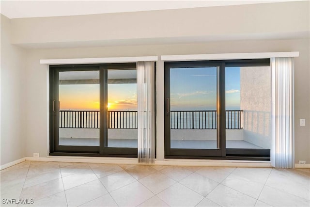
[[[155,163],[155,63],[137,62],[138,162]]]

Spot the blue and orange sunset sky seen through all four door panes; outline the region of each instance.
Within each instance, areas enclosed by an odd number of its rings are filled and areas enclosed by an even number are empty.
[[[216,109],[217,70],[171,69],[171,110]],[[186,83],[186,84],[185,84]],[[61,110],[99,110],[99,84],[59,85]],[[137,110],[137,84],[109,84],[109,110]],[[226,68],[226,109],[240,109],[240,68]]]

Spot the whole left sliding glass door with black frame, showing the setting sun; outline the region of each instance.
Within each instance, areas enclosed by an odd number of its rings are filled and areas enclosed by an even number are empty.
[[[50,66],[50,153],[137,156],[136,64]]]

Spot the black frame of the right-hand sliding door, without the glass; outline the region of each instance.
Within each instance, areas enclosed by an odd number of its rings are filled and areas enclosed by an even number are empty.
[[[217,149],[171,149],[170,139],[170,68],[211,67],[217,66],[218,106],[217,138],[220,151]],[[164,109],[165,109],[165,158],[184,159],[250,159],[270,160],[270,149],[226,149],[226,112],[225,112],[225,69],[226,67],[270,66],[270,59],[219,60],[219,61],[180,61],[164,63]]]

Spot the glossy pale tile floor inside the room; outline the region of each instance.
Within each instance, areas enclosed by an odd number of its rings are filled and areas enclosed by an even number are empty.
[[[310,169],[25,161],[0,173],[0,206],[310,206]]]

